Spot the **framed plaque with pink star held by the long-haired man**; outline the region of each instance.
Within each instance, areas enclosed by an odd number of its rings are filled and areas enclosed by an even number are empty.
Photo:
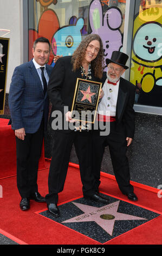
[[[77,78],[72,105],[72,117],[77,121],[94,123],[102,83]]]

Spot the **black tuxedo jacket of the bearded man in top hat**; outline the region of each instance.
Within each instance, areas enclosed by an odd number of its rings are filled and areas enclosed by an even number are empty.
[[[107,76],[103,72],[102,84],[105,83]],[[135,86],[120,77],[118,99],[116,102],[116,125],[124,124],[126,137],[133,138],[135,131],[135,111],[133,109],[135,97]]]

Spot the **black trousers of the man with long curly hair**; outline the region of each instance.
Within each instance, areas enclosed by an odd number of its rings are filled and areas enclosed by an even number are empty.
[[[95,180],[92,175],[92,133],[72,131],[67,134],[55,131],[54,150],[49,169],[47,203],[58,202],[58,193],[63,190],[66,180],[73,143],[79,159],[83,195],[90,196],[95,192]],[[74,181],[71,180],[71,182],[73,184]]]

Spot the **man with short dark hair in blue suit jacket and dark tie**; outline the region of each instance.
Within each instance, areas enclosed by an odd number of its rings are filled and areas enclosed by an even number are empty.
[[[9,91],[9,124],[16,136],[17,187],[22,197],[22,210],[30,208],[30,199],[45,202],[38,193],[37,170],[48,122],[49,97],[46,91],[53,69],[46,64],[50,42],[38,38],[32,51],[34,58],[15,68]]]

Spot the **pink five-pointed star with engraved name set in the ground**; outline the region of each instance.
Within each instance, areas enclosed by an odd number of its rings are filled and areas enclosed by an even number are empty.
[[[113,235],[115,221],[147,220],[146,218],[117,212],[120,200],[100,208],[80,203],[72,203],[82,210],[84,214],[70,218],[62,223],[94,221],[111,236]]]

